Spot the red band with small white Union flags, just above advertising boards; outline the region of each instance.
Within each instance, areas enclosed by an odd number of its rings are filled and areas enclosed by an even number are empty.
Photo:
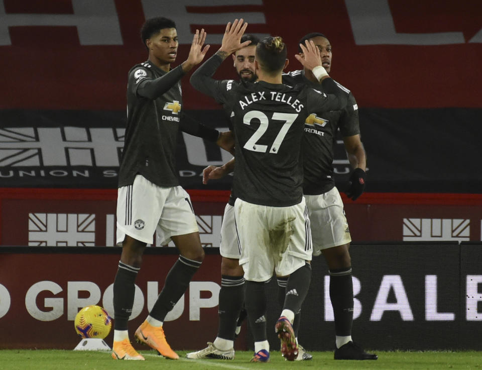
[[[204,247],[219,247],[227,191],[190,190]],[[353,242],[482,240],[482,195],[342,195]],[[113,246],[116,190],[0,188],[0,245]],[[154,238],[154,244],[156,239]]]

